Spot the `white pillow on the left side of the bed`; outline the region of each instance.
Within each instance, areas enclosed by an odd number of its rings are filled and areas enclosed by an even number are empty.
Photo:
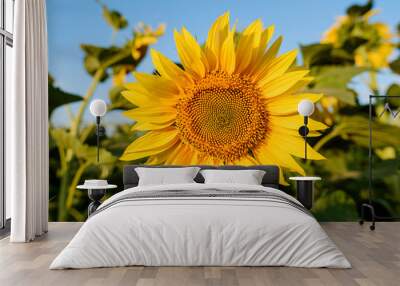
[[[195,183],[193,179],[199,170],[199,167],[135,168],[139,176],[139,186]]]

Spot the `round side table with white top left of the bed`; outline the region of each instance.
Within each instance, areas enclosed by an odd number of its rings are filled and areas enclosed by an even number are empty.
[[[85,184],[79,185],[77,189],[87,190],[91,203],[88,206],[88,216],[96,211],[101,205],[100,200],[108,189],[115,189],[117,185],[110,185],[106,180],[85,180]]]

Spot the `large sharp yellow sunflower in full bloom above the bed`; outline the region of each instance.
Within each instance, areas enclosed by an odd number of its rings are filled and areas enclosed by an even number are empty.
[[[312,78],[294,66],[296,51],[278,56],[282,38],[268,48],[274,27],[251,23],[238,38],[229,13],[220,16],[203,46],[185,29],[174,31],[182,68],[152,50],[157,74],[136,72],[123,96],[136,108],[125,115],[146,131],[121,160],[147,158],[160,165],[274,164],[304,175],[293,158],[304,156],[298,135],[302,99],[321,94],[297,91]],[[311,136],[326,126],[309,121]],[[309,146],[310,159],[324,159]],[[281,177],[281,182],[284,178]]]

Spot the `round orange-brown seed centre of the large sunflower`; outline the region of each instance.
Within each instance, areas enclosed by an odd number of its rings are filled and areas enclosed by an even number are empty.
[[[267,132],[260,90],[248,79],[209,73],[178,103],[182,140],[204,155],[233,162],[249,154]]]

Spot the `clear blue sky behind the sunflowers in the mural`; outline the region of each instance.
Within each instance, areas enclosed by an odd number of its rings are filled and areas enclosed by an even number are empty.
[[[238,20],[239,30],[254,19],[260,18],[264,25],[275,25],[276,35],[284,36],[282,52],[298,48],[300,44],[317,42],[335,21],[344,14],[352,3],[366,1],[349,0],[103,0],[111,9],[120,11],[128,19],[130,27],[117,36],[123,43],[131,35],[132,27],[138,22],[157,26],[167,25],[165,35],[153,47],[169,58],[176,60],[173,41],[174,28],[185,26],[200,42],[204,41],[212,22],[229,10],[232,20]],[[384,21],[394,27],[400,22],[400,1],[377,0],[376,8],[381,13],[373,19]],[[49,71],[62,89],[83,95],[91,78],[83,68],[83,52],[79,45],[88,43],[107,46],[111,43],[111,28],[101,16],[101,8],[95,0],[49,0],[47,1],[49,33]],[[139,71],[151,72],[152,64],[147,57],[138,67]],[[132,79],[133,80],[133,79]],[[382,75],[381,82],[400,82],[398,77]],[[110,83],[102,84],[96,97],[107,100]],[[368,93],[361,86],[361,93]],[[74,108],[73,108],[74,110]],[[86,120],[91,120],[86,114]],[[108,123],[125,120],[120,114],[107,116]],[[53,115],[57,124],[67,122],[64,108]]]

